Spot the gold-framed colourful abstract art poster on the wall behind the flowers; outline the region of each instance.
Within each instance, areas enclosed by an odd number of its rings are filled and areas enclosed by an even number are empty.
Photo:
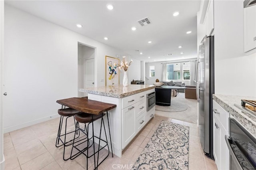
[[[105,56],[105,85],[119,85],[118,67],[114,63],[119,64],[119,59],[115,57]]]

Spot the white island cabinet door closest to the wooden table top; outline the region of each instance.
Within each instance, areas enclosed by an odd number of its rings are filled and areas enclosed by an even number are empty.
[[[122,148],[124,148],[135,136],[135,112],[136,104],[122,109]]]

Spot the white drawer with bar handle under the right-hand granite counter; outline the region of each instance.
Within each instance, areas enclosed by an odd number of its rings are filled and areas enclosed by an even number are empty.
[[[216,101],[213,100],[213,113],[216,118],[220,121],[220,123],[223,125],[226,131],[228,131],[228,118],[229,113],[225,111]]]

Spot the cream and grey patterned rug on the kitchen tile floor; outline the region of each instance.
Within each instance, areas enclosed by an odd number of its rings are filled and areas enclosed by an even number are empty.
[[[188,170],[189,127],[162,121],[134,170]]]

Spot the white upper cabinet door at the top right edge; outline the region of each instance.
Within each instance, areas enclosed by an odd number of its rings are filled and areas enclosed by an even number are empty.
[[[256,48],[256,6],[244,8],[244,52]]]

